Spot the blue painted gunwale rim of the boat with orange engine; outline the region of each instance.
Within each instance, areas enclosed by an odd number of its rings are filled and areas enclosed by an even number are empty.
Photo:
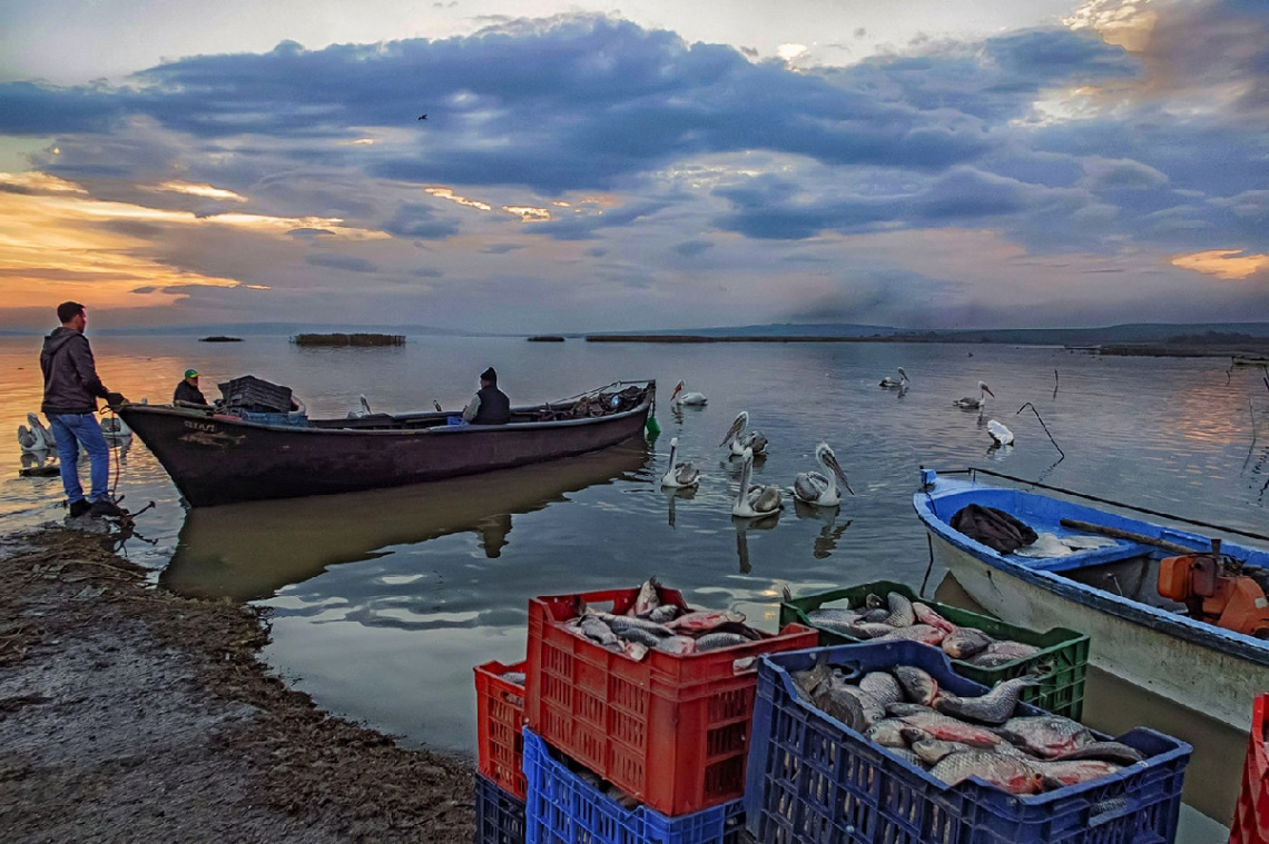
[[[1269,665],[1269,643],[1247,636],[1245,634],[1237,634],[1232,630],[1223,630],[1209,625],[1206,622],[1195,621],[1185,616],[1178,616],[1174,613],[1165,612],[1162,610],[1142,604],[1141,602],[1132,601],[1126,597],[1112,594],[1105,589],[1099,589],[1098,587],[1081,583],[1072,578],[1065,577],[1058,572],[1047,572],[1043,569],[1033,569],[1022,563],[1009,559],[1011,555],[1003,555],[986,545],[977,542],[964,534],[954,530],[947,521],[944,521],[933,508],[933,502],[939,499],[952,499],[953,497],[964,497],[967,493],[972,493],[976,489],[986,490],[1003,490],[1011,492],[1018,496],[1033,497],[1037,499],[1052,501],[1060,504],[1066,504],[1074,508],[1081,508],[1088,511],[1095,511],[1099,513],[1107,513],[1108,511],[1101,511],[1095,507],[1088,507],[1084,504],[1074,504],[1070,502],[1063,502],[1062,499],[1053,498],[1049,496],[1041,496],[1038,493],[1027,492],[1024,489],[1013,489],[1010,487],[997,487],[994,484],[983,484],[976,480],[952,480],[952,479],[938,479],[935,487],[939,484],[945,484],[947,488],[943,490],[923,489],[912,496],[912,507],[916,509],[917,517],[925,525],[926,530],[935,535],[937,539],[947,542],[952,547],[970,555],[975,560],[980,561],[982,565],[987,565],[999,572],[1004,572],[1011,577],[1015,577],[1027,583],[1036,584],[1048,592],[1076,603],[1090,606],[1094,610],[1109,612],[1115,615],[1128,622],[1141,625],[1143,627],[1151,627],[1165,632],[1167,635],[1175,635],[1179,639],[1184,639],[1195,645],[1203,648],[1209,648],[1212,650],[1220,650],[1225,653],[1232,653],[1233,655],[1245,659],[1247,662],[1258,663],[1261,665]],[[966,503],[970,503],[968,501]],[[1160,528],[1162,526],[1146,522],[1143,520],[1134,520],[1124,516],[1118,516],[1109,513],[1117,518],[1124,521],[1132,521],[1138,525],[1143,525],[1151,528]],[[1231,545],[1242,551],[1250,551],[1253,554],[1269,554],[1269,551],[1249,547],[1236,542],[1222,542],[1223,549],[1227,550]],[[1129,550],[1132,547],[1143,549],[1147,547],[1140,542],[1134,542],[1132,546],[1127,546]],[[1195,549],[1197,554],[1202,554],[1206,549]],[[1094,565],[1101,565],[1114,560],[1105,559],[1090,559],[1088,568]],[[1084,566],[1077,566],[1084,568]]]

